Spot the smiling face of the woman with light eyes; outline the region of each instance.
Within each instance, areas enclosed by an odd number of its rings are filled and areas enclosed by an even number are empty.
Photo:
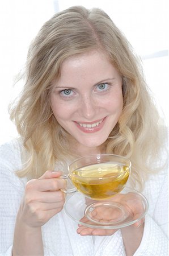
[[[122,79],[102,52],[66,59],[53,81],[50,104],[58,123],[77,146],[106,141],[122,112]]]

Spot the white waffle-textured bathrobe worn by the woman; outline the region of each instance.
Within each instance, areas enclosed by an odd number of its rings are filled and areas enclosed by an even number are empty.
[[[15,139],[1,146],[0,162],[0,256],[11,256],[14,226],[26,178],[14,172],[22,168],[22,144]],[[59,167],[60,168],[60,167]],[[134,256],[168,255],[168,171],[151,175],[142,192],[149,202],[142,242]],[[78,224],[64,210],[42,228],[44,256],[124,256],[125,247],[119,229],[112,236],[80,236]],[[33,256],[33,255],[32,255]]]

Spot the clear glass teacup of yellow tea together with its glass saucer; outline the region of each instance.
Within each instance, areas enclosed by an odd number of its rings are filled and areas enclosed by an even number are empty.
[[[129,159],[113,154],[74,160],[69,164],[69,174],[62,176],[71,181],[64,192],[77,192],[67,198],[65,212],[90,228],[121,228],[140,220],[148,205],[141,193],[126,187],[131,167]],[[132,210],[135,207],[137,214]]]

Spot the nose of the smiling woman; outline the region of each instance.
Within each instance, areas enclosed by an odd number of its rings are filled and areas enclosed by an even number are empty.
[[[90,95],[83,95],[81,98],[79,111],[81,112],[82,117],[90,121],[94,119],[96,112],[98,111],[95,99]]]

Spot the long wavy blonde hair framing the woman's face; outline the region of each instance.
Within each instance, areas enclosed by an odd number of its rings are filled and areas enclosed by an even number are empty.
[[[28,51],[26,82],[18,104],[11,108],[11,119],[27,150],[24,167],[17,172],[19,177],[39,177],[53,169],[58,160],[66,162],[71,157],[70,135],[50,108],[51,82],[60,76],[67,57],[96,49],[107,54],[119,71],[124,97],[119,122],[104,143],[105,152],[130,158],[133,181],[141,187],[147,174],[155,172],[162,147],[159,115],[140,60],[104,11],[74,6],[49,19]]]

